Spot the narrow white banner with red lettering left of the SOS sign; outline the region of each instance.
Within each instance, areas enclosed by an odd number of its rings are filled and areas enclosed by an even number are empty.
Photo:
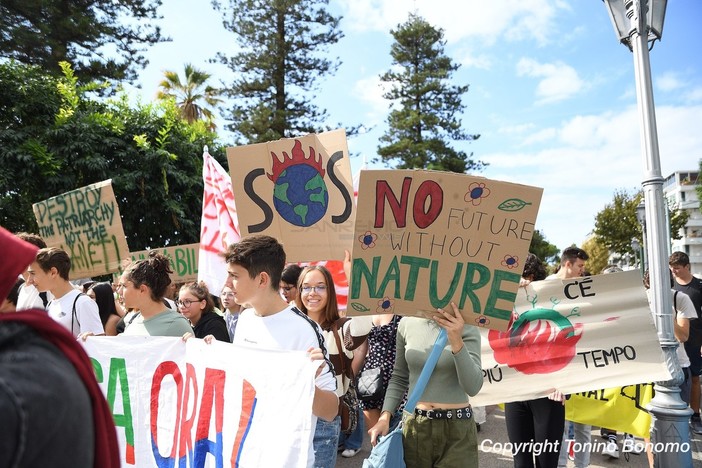
[[[221,164],[207,152],[202,155],[202,218],[198,280],[204,281],[212,294],[219,295],[227,277],[221,254],[239,240],[239,220],[234,204],[232,180]]]

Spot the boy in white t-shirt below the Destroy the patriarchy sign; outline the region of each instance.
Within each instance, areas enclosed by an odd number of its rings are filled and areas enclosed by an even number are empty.
[[[68,281],[71,258],[56,247],[41,249],[29,265],[29,284],[39,292],[49,291],[54,299],[47,306],[49,316],[71,331],[73,336],[91,332],[104,335],[97,303],[75,289]]]

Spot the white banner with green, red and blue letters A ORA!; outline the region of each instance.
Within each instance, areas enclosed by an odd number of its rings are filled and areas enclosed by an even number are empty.
[[[307,466],[319,363],[215,341],[91,337],[122,466]]]

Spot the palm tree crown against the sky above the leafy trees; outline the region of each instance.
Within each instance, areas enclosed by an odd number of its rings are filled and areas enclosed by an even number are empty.
[[[222,100],[221,91],[206,84],[209,73],[198,70],[192,64],[185,64],[185,81],[181,82],[177,72],[166,70],[165,79],[159,83],[161,90],[158,99],[175,98],[180,113],[188,123],[204,120],[210,130],[214,130],[214,114],[211,107],[216,107]],[[204,104],[201,102],[204,101]],[[210,106],[210,107],[207,107]]]

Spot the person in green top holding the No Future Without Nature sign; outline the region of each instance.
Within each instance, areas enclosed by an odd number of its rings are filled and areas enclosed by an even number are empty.
[[[478,466],[478,440],[468,397],[483,386],[480,332],[466,325],[458,307],[437,309],[431,319],[405,317],[397,330],[395,368],[383,410],[370,434],[375,445],[386,435],[390,418],[405,392],[412,393],[432,344],[443,328],[446,346],[413,414],[403,413],[403,447],[408,468]]]

